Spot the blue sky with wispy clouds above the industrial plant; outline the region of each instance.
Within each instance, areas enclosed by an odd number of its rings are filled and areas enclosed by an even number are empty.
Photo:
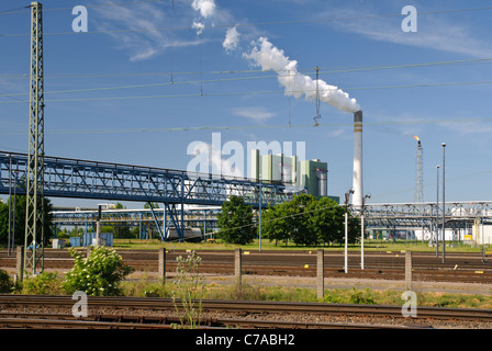
[[[213,132],[245,149],[304,141],[308,159],[328,162],[328,193],[343,197],[351,185],[353,114],[322,102],[314,127],[315,102],[286,94],[278,73],[251,58],[262,37],[297,61],[300,77],[315,79],[317,66],[321,80],[357,100],[371,203],[414,201],[414,135],[424,148],[425,201],[436,199],[441,143],[446,200],[492,200],[490,1],[42,2],[46,155],[187,169],[190,143],[210,144]],[[5,151],[27,149],[30,14],[15,9],[29,4],[0,4]],[[76,5],[88,10],[88,33],[72,31]],[[417,32],[402,31],[405,5],[417,10]],[[225,49],[233,27],[237,41]]]

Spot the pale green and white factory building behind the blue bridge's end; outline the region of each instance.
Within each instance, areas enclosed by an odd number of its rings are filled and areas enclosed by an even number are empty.
[[[250,174],[255,181],[281,183],[305,189],[314,196],[328,196],[328,165],[318,159],[300,161],[297,156],[260,155],[251,150]],[[329,196],[336,202],[339,197]]]

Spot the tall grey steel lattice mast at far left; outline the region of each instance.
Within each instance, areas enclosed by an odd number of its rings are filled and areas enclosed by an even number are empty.
[[[36,274],[44,269],[44,65],[43,5],[31,5],[31,76],[29,116],[29,158],[24,270]],[[31,254],[29,251],[31,250]],[[41,267],[40,267],[41,263]],[[41,269],[41,270],[40,270]]]

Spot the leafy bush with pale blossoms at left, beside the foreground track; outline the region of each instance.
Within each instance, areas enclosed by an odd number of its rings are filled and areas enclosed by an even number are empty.
[[[89,296],[119,295],[121,281],[133,272],[112,248],[96,247],[87,259],[75,250],[70,254],[75,259],[74,268],[65,274],[63,283],[68,294],[82,291]]]

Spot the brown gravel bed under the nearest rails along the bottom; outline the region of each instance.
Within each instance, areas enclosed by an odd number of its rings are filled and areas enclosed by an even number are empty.
[[[71,314],[70,296],[0,295],[1,314]],[[179,304],[178,304],[179,305]],[[172,301],[167,298],[89,297],[91,316],[180,317]],[[182,316],[181,316],[182,317]],[[202,320],[239,320],[230,327],[301,328],[303,322],[325,324],[324,328],[434,328],[492,329],[492,310],[462,308],[417,308],[417,317],[404,318],[400,306],[295,304],[242,301],[203,301]],[[298,326],[289,325],[295,321]],[[249,327],[248,327],[249,322]],[[212,326],[209,324],[209,326]]]

